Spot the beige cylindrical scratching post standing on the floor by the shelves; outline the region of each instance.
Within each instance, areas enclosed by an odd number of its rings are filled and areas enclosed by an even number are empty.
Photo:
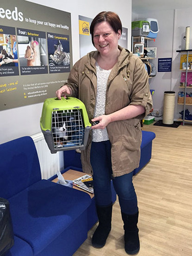
[[[163,104],[163,123],[174,123],[174,110],[175,110],[175,92],[164,92],[164,104]]]

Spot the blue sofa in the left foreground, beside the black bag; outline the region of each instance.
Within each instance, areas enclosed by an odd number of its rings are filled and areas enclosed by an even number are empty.
[[[10,202],[14,245],[6,256],[71,256],[87,239],[87,193],[41,180],[31,137],[0,145],[0,197]]]

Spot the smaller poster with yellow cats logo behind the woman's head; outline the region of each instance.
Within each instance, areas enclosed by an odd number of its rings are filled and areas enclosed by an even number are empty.
[[[92,44],[90,25],[93,18],[88,18],[79,15],[79,45],[80,45],[80,58],[91,51],[96,51]],[[127,49],[127,28],[122,27],[122,34],[119,39],[119,45]]]

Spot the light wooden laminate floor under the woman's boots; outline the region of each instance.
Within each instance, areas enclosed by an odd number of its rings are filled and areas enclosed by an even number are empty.
[[[192,255],[192,125],[144,125],[156,133],[151,161],[134,176],[139,206],[139,256]],[[91,246],[96,225],[74,256],[127,255],[118,200],[112,231],[101,249]]]

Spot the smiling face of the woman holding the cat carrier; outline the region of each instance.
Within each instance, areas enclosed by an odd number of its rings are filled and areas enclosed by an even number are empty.
[[[103,56],[110,56],[117,51],[120,37],[121,31],[118,30],[118,33],[115,33],[108,22],[98,23],[94,27],[94,46]]]

